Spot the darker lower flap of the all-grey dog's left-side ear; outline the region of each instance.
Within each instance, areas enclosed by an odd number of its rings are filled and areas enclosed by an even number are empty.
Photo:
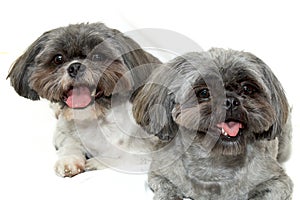
[[[172,118],[174,106],[175,95],[168,88],[148,83],[137,92],[132,111],[136,122],[149,134],[170,141],[178,130]]]

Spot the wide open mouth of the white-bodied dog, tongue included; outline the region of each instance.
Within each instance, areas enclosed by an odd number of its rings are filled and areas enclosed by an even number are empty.
[[[70,86],[64,94],[65,104],[73,109],[85,108],[92,104],[96,98],[101,97],[103,91],[88,86]]]

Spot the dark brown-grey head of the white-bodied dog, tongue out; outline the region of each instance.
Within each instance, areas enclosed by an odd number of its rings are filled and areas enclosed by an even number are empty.
[[[23,97],[77,109],[109,99],[125,72],[151,62],[159,61],[119,31],[101,23],[76,24],[40,36],[8,77]],[[122,81],[131,87],[131,80]]]

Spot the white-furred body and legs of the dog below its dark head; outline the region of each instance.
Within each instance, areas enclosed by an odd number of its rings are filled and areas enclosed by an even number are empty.
[[[152,143],[157,139],[135,123],[131,108],[127,101],[113,106],[104,118],[97,118],[94,105],[73,109],[72,120],[59,115],[54,135],[59,156],[56,173],[74,176],[105,167],[131,173],[147,171]]]

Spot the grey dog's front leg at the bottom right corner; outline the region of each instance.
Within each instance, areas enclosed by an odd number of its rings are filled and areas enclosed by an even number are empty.
[[[249,200],[289,200],[292,199],[293,183],[283,172],[278,177],[257,185],[249,193]]]

